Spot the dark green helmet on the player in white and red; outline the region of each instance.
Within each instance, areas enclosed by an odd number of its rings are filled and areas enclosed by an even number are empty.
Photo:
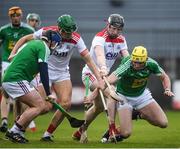
[[[58,26],[67,33],[72,33],[77,30],[77,25],[72,16],[64,14],[57,20]]]

